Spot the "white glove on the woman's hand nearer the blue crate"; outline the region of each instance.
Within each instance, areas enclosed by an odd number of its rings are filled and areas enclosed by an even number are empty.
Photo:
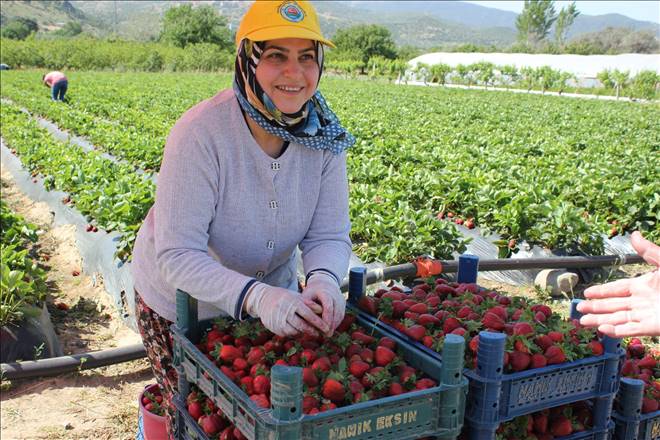
[[[335,278],[325,272],[314,272],[307,280],[307,285],[302,293],[306,304],[310,302],[320,303],[323,307],[323,321],[328,325],[332,333],[344,319],[346,311],[346,298],[339,290],[339,285]]]

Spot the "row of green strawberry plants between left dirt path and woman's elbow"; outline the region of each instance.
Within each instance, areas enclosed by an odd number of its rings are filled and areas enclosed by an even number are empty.
[[[154,184],[148,174],[135,173],[86,153],[82,148],[53,139],[47,130],[11,104],[2,105],[2,138],[33,177],[43,177],[46,189],[69,193],[65,203],[98,227],[121,234],[118,257],[129,258],[135,234],[154,200]]]

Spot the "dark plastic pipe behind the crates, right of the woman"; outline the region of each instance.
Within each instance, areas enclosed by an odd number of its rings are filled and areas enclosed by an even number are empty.
[[[626,255],[596,255],[586,257],[552,257],[552,258],[502,258],[493,260],[479,260],[479,271],[523,270],[523,269],[576,269],[617,266],[623,264],[640,264],[644,259],[637,254]],[[458,272],[458,261],[441,261],[442,273]],[[366,274],[366,283],[395,278],[407,278],[417,275],[417,266],[414,263],[404,263],[373,269]],[[342,291],[348,290],[348,281],[341,285]]]

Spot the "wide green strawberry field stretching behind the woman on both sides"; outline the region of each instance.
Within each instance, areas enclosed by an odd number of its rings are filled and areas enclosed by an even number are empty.
[[[41,74],[2,72],[3,139],[91,224],[120,231],[128,259],[170,127],[231,77],[77,72],[62,105]],[[636,229],[660,239],[657,105],[334,78],[321,90],[357,138],[350,209],[365,262],[451,258],[465,244],[454,223],[498,233],[505,251],[525,240],[599,254],[605,238]],[[122,163],[53,139],[20,109]]]

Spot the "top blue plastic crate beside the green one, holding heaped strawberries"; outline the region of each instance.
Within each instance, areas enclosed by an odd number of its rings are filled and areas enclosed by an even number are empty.
[[[349,303],[357,305],[366,294],[366,271],[353,268],[349,275]],[[460,275],[460,266],[459,266]],[[476,275],[476,273],[475,273]],[[464,282],[473,282],[465,280]],[[578,318],[577,302],[572,304],[571,317]],[[436,351],[417,342],[407,334],[360,311],[360,316],[388,335],[396,336],[421,352],[435,357]],[[466,333],[467,334],[467,333]],[[609,428],[614,396],[619,385],[621,341],[604,337],[604,352],[600,356],[564,362],[515,373],[504,373],[506,335],[482,331],[479,334],[476,368],[465,369],[469,379],[465,416],[471,439],[495,438],[500,423],[542,409],[581,400],[594,400],[594,432]]]

